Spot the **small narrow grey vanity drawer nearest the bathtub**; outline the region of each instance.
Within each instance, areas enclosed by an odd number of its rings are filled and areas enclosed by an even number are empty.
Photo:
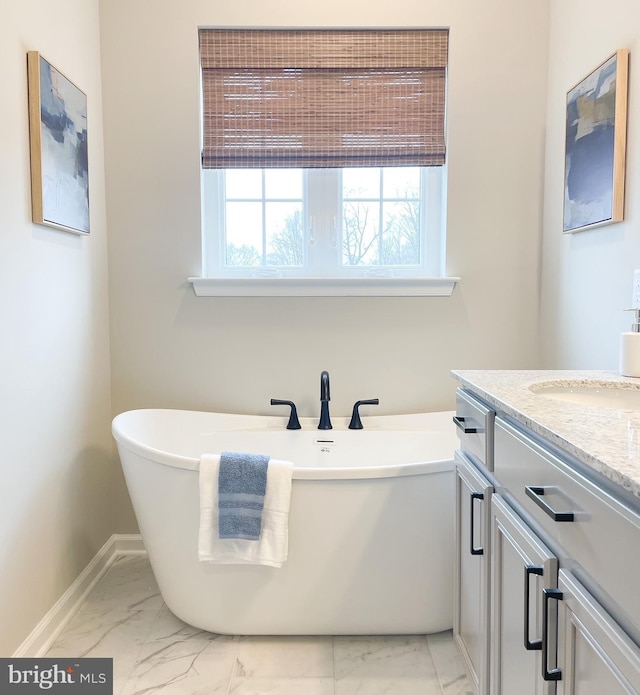
[[[495,410],[464,389],[456,391],[456,415],[460,448],[487,470],[493,470],[493,422]]]

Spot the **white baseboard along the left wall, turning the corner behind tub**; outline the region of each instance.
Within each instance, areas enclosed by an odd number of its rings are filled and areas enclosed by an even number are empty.
[[[14,658],[44,656],[82,606],[87,594],[102,579],[116,558],[122,555],[146,555],[146,552],[140,535],[114,534],[111,536],[18,647],[13,654]]]

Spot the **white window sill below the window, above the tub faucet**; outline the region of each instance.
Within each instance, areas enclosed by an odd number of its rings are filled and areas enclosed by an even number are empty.
[[[198,297],[450,297],[447,278],[189,278]]]

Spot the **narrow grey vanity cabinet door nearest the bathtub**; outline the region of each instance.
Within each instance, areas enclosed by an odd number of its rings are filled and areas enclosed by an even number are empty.
[[[489,687],[489,513],[493,486],[456,452],[453,633],[476,695]]]

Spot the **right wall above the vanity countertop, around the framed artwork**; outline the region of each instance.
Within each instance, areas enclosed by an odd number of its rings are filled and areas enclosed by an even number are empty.
[[[625,221],[562,234],[566,93],[619,48],[630,50]],[[542,262],[543,362],[616,369],[640,268],[640,3],[552,0]]]

